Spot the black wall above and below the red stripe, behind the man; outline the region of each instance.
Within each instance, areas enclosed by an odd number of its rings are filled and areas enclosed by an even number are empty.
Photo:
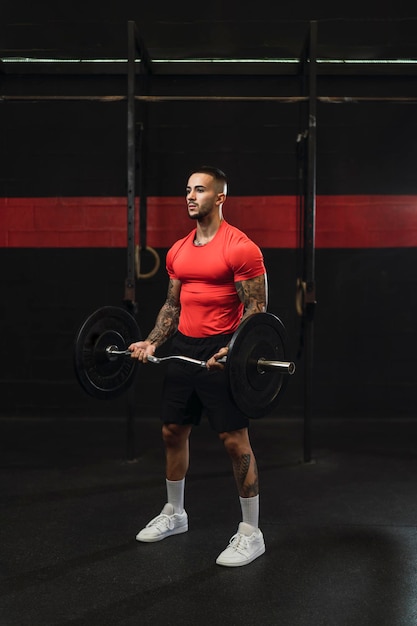
[[[321,80],[327,95],[409,95],[414,80]],[[2,77],[7,94],[124,93],[121,77]],[[174,78],[156,93],[295,95],[291,77]],[[192,91],[191,91],[192,90]],[[123,196],[126,193],[126,106],[98,102],[3,102],[2,197]],[[318,109],[318,185],[322,195],[417,194],[416,105],[324,104]],[[214,162],[229,174],[232,195],[296,193],[296,137],[305,125],[297,104],[159,103],[147,115],[147,192],[181,196],[187,170]],[[64,219],[64,216],[63,216]],[[254,223],[256,221],[254,213]],[[272,219],[272,216],[271,216]],[[1,217],[0,217],[1,224]],[[381,225],[384,227],[384,225]],[[34,225],[36,228],[36,224]],[[396,227],[395,209],[390,225]],[[400,225],[404,227],[404,225]],[[343,225],[341,225],[343,228]],[[387,228],[387,225],[385,225]],[[416,241],[417,244],[417,241]],[[415,417],[416,247],[317,250],[314,410],[320,415]],[[161,258],[166,250],[160,249]],[[295,313],[298,253],[264,249],[270,310],[282,317],[302,356]],[[120,248],[0,249],[3,341],[2,415],[125,415],[126,399],[89,398],[72,365],[77,328],[93,310],[120,305],[126,252]],[[165,297],[158,275],[137,285],[138,319],[152,325]],[[283,414],[303,407],[299,359],[282,399]],[[161,369],[141,368],[138,414],[156,412]]]

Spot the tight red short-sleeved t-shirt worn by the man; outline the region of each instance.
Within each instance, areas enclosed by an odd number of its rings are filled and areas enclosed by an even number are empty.
[[[169,277],[181,281],[178,330],[188,337],[233,333],[243,314],[235,283],[265,274],[262,252],[225,221],[204,246],[193,244],[195,235],[174,243],[166,259]]]

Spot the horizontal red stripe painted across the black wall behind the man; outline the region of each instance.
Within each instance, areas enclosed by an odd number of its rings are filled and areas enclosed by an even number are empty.
[[[317,248],[417,246],[417,196],[318,196],[316,203]],[[294,196],[229,197],[224,217],[263,248],[298,245]],[[148,198],[149,246],[168,248],[192,226],[184,198]],[[0,247],[120,248],[126,232],[123,197],[0,198]]]

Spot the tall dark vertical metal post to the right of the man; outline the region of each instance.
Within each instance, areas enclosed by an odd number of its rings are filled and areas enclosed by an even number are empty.
[[[313,416],[314,312],[316,305],[315,232],[316,232],[316,145],[317,145],[317,22],[310,23],[308,63],[307,179],[304,212],[304,461],[311,461],[311,424]]]

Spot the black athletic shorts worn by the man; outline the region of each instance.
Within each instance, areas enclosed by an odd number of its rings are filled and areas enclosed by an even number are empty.
[[[177,332],[171,352],[207,361],[231,338],[232,335],[195,338]],[[249,419],[233,402],[225,371],[210,371],[179,360],[167,363],[162,394],[164,424],[197,425],[204,413],[218,433],[248,427]]]

